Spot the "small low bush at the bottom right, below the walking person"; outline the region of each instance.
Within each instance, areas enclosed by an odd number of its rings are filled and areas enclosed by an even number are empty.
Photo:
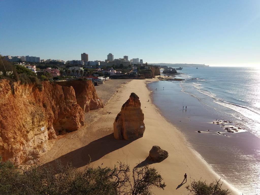
[[[220,179],[210,184],[206,184],[206,181],[193,180],[191,185],[186,186],[186,189],[192,195],[229,195],[231,193],[228,189],[222,189],[221,186]]]

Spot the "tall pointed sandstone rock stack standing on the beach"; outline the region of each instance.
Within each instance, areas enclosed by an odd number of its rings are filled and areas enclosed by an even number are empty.
[[[131,93],[129,99],[123,104],[120,113],[116,116],[114,138],[126,140],[141,138],[144,131],[144,114],[139,97],[135,93]]]

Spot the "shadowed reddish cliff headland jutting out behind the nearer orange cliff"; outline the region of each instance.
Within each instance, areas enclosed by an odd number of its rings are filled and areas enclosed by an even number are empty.
[[[96,94],[96,90],[92,81],[75,80],[56,83],[60,86],[73,87],[75,90],[77,104],[80,105],[84,112],[89,112],[89,110],[104,107],[102,100]]]

